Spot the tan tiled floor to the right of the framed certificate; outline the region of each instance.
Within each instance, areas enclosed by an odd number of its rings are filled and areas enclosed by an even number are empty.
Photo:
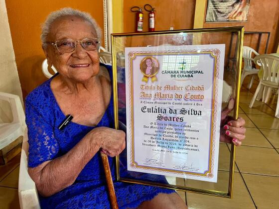
[[[239,171],[236,168],[233,199],[187,192],[189,209],[279,209],[279,119],[274,117],[277,97],[272,96],[268,104],[256,101],[249,108],[257,81],[248,90],[248,79],[240,94],[239,116],[246,120],[247,132],[243,145],[236,149]],[[224,151],[221,144],[220,154]],[[224,162],[227,159],[219,156],[219,169],[224,169]]]

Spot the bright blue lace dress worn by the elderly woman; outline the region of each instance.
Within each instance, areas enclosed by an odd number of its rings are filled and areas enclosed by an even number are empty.
[[[112,77],[110,66],[106,66]],[[72,149],[95,127],[70,122],[62,131],[58,125],[65,118],[50,89],[52,78],[33,90],[25,101],[26,124],[28,127],[28,167],[36,167],[44,161],[55,159]],[[113,97],[112,97],[113,98]],[[114,127],[113,99],[96,127]],[[109,157],[113,180],[114,160]],[[73,165],[75,166],[75,165]],[[153,199],[158,193],[173,190],[139,184],[114,183],[120,208],[136,208],[143,201]],[[91,208],[109,209],[110,202],[100,153],[84,167],[73,185],[47,198],[39,197],[41,208]]]

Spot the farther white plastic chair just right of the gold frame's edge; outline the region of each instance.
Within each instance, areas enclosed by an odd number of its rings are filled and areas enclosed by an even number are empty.
[[[253,75],[250,83],[248,84],[248,89],[250,89],[252,87],[254,78],[255,78],[256,74],[258,74],[258,72],[259,72],[259,69],[253,68],[253,62],[254,62],[254,58],[252,58],[253,53],[256,56],[259,55],[259,53],[256,52],[251,47],[243,46],[242,57],[244,60],[244,67],[243,67],[242,74],[241,74],[241,85],[240,86],[242,86],[242,83],[246,76]]]

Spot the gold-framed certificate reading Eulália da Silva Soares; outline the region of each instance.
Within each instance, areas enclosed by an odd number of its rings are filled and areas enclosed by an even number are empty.
[[[232,33],[237,65],[224,71]],[[127,137],[117,180],[232,197],[235,146],[222,127],[238,117],[242,41],[243,27],[112,34],[115,125]]]

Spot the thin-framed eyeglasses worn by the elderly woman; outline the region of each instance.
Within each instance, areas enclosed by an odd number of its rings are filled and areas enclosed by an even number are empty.
[[[46,43],[56,46],[57,50],[61,53],[68,53],[68,52],[73,52],[75,50],[75,48],[77,47],[77,42],[80,42],[82,48],[84,48],[86,51],[95,51],[99,49],[100,41],[97,38],[85,38],[81,41],[62,39],[59,41],[55,41],[55,43],[53,42],[46,42]]]

